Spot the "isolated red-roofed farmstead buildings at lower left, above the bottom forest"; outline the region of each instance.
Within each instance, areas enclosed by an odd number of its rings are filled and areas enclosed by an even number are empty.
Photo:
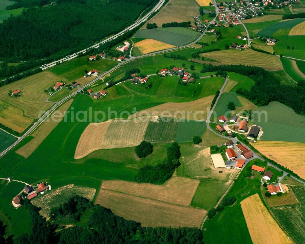
[[[38,193],[40,193],[42,195],[47,190],[51,190],[51,186],[50,185],[47,186],[46,182],[37,184],[36,190],[34,189],[33,186],[26,185],[23,188],[22,194],[17,195],[16,197],[13,198],[12,204],[15,208],[20,208],[23,205],[24,198],[27,198],[30,200],[30,199],[38,196]]]

